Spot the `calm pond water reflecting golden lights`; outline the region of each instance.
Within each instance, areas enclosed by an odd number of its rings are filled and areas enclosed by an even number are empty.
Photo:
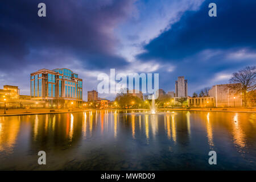
[[[38,165],[38,151],[47,164]],[[217,152],[217,165],[208,152]],[[256,169],[256,114],[119,111],[0,117],[0,169]]]

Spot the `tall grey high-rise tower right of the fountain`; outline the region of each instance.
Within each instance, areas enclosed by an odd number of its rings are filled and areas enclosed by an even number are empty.
[[[188,97],[188,80],[179,76],[175,82],[175,97]]]

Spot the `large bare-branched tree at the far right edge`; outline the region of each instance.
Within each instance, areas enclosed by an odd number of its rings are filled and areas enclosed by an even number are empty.
[[[256,88],[256,67],[246,67],[240,71],[233,73],[230,78],[233,89],[242,93],[244,106],[247,106],[248,92]]]

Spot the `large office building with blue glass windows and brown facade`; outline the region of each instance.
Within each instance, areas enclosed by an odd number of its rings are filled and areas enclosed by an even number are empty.
[[[40,69],[30,76],[33,99],[64,107],[82,103],[82,79],[70,69]]]

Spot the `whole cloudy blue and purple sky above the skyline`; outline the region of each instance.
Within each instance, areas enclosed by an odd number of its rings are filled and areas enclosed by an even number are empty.
[[[38,4],[46,4],[46,17]],[[216,3],[217,17],[208,15]],[[0,87],[30,95],[30,73],[69,68],[83,79],[83,99],[100,73],[159,73],[159,88],[188,94],[226,84],[256,65],[253,0],[1,0]],[[114,99],[114,94],[100,94]]]

